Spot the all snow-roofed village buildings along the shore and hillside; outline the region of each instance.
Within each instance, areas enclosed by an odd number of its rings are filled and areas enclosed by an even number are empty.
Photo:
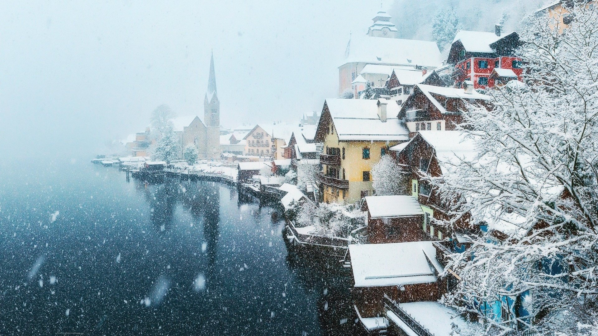
[[[554,27],[562,33],[570,23],[566,10],[567,1],[556,1],[538,13],[559,17]],[[435,221],[450,218],[451,200],[435,192],[429,177],[450,173],[447,166],[459,158],[475,157],[471,139],[457,129],[463,112],[490,109],[485,93],[493,88],[524,85],[525,60],[515,56],[518,33],[499,24],[493,32],[459,30],[443,59],[436,42],[398,38],[390,19],[379,11],[367,34],[351,36],[338,67],[339,97],[325,99],[320,113],[303,115],[297,124],[225,129],[212,56],[203,120],[177,118],[174,131],[181,151],[193,145],[198,160],[231,164],[240,184],[280,198],[288,194],[285,209],[301,202],[357,204],[367,216],[366,241],[349,244],[343,262],[352,270],[360,323],[368,332],[450,335],[475,322],[438,303],[459,281],[454,273],[443,275],[448,256],[465,251],[467,233],[492,231],[503,239],[508,226],[503,232],[463,219],[451,230],[438,227]],[[127,148],[133,157],[145,157],[154,142],[148,127]],[[402,176],[401,194],[380,195],[374,188],[372,170],[385,157]],[[310,230],[297,225],[289,237],[299,242]],[[518,328],[526,328],[532,295],[480,304],[496,323],[519,321]],[[513,300],[521,303],[517,309],[505,309]],[[434,323],[432,315],[438,317]]]

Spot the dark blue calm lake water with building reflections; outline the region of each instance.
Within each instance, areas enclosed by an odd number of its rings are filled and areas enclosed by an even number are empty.
[[[351,279],[289,254],[276,204],[89,161],[0,168],[1,335],[361,332]]]

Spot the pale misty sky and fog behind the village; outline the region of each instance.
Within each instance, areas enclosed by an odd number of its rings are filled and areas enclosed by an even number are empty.
[[[432,40],[453,8],[460,29],[505,30],[545,0],[382,2],[402,38]],[[338,93],[350,33],[380,1],[3,1],[0,160],[86,158],[141,132],[151,111],[203,117],[213,50],[221,123],[298,122]],[[508,10],[505,13],[505,9]]]

